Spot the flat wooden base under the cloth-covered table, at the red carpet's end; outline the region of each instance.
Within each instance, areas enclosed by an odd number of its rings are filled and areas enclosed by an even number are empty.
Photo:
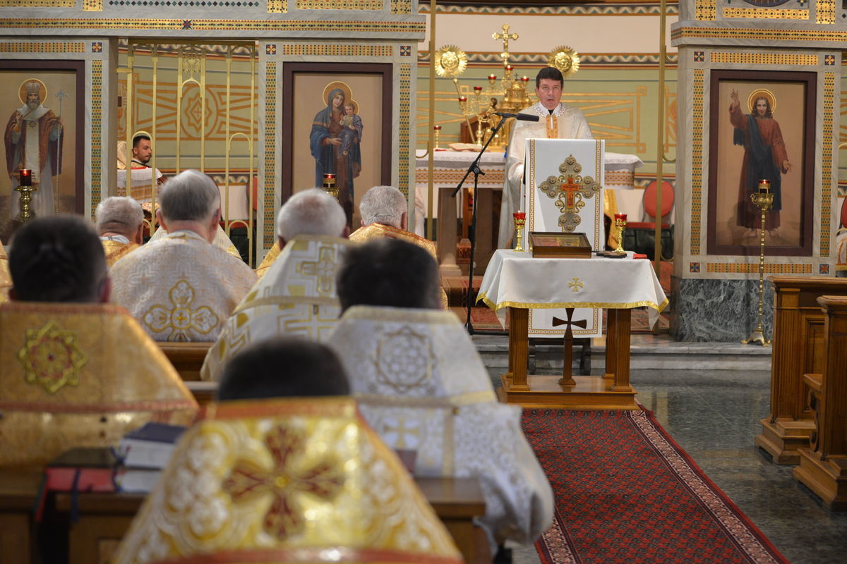
[[[501,375],[497,398],[523,408],[558,409],[640,409],[632,386],[628,392],[616,392],[613,381],[601,376],[573,376],[576,386],[559,384],[561,375],[528,375],[529,390],[512,386],[508,375]]]

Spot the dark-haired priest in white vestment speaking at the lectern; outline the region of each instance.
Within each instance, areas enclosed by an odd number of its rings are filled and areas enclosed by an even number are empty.
[[[506,182],[500,208],[500,234],[497,246],[504,249],[515,232],[512,213],[521,211],[523,157],[528,139],[594,139],[591,128],[579,108],[562,104],[565,80],[558,68],[542,68],[535,76],[538,102],[520,113],[538,116],[537,122],[515,120],[506,159]]]

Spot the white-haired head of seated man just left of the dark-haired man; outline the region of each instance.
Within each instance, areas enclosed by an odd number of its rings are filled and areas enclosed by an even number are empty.
[[[292,195],[276,214],[276,234],[283,244],[297,235],[345,237],[346,227],[344,209],[319,188]]]

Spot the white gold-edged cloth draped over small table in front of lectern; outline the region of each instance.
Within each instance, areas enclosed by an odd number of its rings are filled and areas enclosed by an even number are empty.
[[[545,259],[527,252],[498,249],[479,286],[479,297],[502,308],[606,308],[646,306],[650,326],[667,306],[667,297],[649,260]]]

